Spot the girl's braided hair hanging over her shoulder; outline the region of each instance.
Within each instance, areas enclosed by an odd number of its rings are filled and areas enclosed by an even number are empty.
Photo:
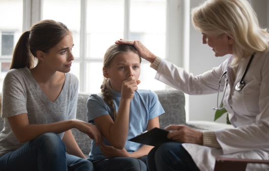
[[[116,117],[117,117],[117,111],[115,109],[115,104],[113,102],[111,93],[110,93],[110,88],[111,87],[111,83],[110,80],[108,78],[104,78],[103,84],[101,86],[101,92],[104,98],[104,101],[108,104],[108,106],[112,109],[112,119],[115,122]]]

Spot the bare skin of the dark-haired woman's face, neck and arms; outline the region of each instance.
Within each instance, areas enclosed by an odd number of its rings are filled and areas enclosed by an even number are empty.
[[[51,102],[57,100],[65,80],[64,73],[70,71],[74,60],[73,46],[73,37],[70,33],[49,52],[37,51],[39,61],[36,67],[30,69],[30,72]],[[22,113],[8,117],[8,121],[20,143],[31,141],[45,133],[59,134],[65,132],[62,141],[66,146],[66,151],[81,158],[86,157],[80,150],[70,129],[76,128],[87,134],[91,139],[95,139],[96,145],[103,141],[96,126],[78,119],[62,120],[48,124],[29,124],[27,113]]]

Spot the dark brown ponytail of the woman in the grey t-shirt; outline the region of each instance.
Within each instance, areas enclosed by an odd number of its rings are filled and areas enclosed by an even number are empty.
[[[33,67],[33,56],[29,52],[30,31],[25,31],[20,36],[13,52],[12,62],[9,69]]]

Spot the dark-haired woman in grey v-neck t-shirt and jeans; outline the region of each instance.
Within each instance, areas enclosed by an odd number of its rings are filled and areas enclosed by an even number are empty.
[[[75,119],[73,46],[69,29],[53,20],[33,25],[18,40],[3,86],[0,170],[93,170],[70,130],[84,132],[96,145],[102,140],[94,125]]]

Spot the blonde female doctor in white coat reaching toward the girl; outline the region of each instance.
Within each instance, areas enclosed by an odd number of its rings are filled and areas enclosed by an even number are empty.
[[[140,41],[115,43],[134,45],[157,71],[155,79],[177,90],[190,95],[224,92],[215,109],[223,103],[236,129],[202,133],[186,125],[169,125],[166,130],[176,131],[168,138],[176,142],[151,150],[149,170],[213,170],[216,156],[269,160],[269,34],[259,27],[247,0],[208,0],[192,9],[191,15],[203,44],[216,57],[229,54],[203,74],[193,76],[156,57]],[[250,164],[247,170],[258,166]]]

